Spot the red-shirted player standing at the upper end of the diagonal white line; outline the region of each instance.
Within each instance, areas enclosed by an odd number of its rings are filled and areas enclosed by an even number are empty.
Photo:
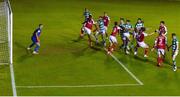
[[[116,36],[117,36],[117,34],[119,34],[119,32],[120,32],[120,27],[118,26],[118,22],[114,22],[114,27],[113,27],[112,33],[109,36],[110,45],[108,47],[108,52],[107,52],[108,54],[112,53],[115,50],[117,43],[118,43]]]

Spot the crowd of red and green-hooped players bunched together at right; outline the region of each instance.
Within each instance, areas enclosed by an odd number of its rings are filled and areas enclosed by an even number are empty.
[[[100,35],[102,38],[102,45],[108,49],[107,54],[111,54],[117,48],[118,41],[116,37],[117,35],[120,35],[122,40],[120,48],[125,51],[125,54],[129,54],[129,51],[134,49],[134,55],[136,56],[138,48],[141,47],[144,48],[144,57],[148,57],[149,46],[144,42],[144,39],[146,36],[151,36],[156,32],[158,33],[158,36],[155,39],[154,46],[151,51],[154,49],[157,50],[157,66],[162,66],[165,59],[165,50],[167,49],[169,51],[172,47],[173,70],[177,70],[175,59],[179,51],[179,42],[176,38],[176,34],[172,33],[172,44],[170,46],[167,45],[167,27],[165,26],[164,21],[160,21],[159,29],[155,30],[153,33],[147,34],[145,33],[146,28],[144,27],[144,22],[141,18],[137,19],[135,27],[132,26],[130,20],[125,21],[124,18],[120,18],[120,23],[114,22],[112,32],[108,36],[107,29],[110,23],[110,17],[106,12],[104,12],[103,16],[99,16],[97,22],[93,20],[92,14],[87,8],[85,8],[83,15],[85,20],[82,23],[83,26],[81,28],[80,37],[83,38],[84,35],[87,35],[90,47],[93,46],[92,38],[95,39],[96,44],[99,44],[98,36]],[[131,35],[132,38],[130,38]],[[106,46],[106,39],[109,39],[109,46]]]

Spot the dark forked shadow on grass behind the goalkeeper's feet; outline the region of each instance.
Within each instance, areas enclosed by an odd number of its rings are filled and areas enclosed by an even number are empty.
[[[21,49],[21,52],[23,53],[20,55],[20,57],[18,57],[17,62],[23,62],[26,59],[32,57],[31,51],[28,51],[25,46],[23,46],[22,44],[18,42],[14,42],[14,45],[17,46],[19,49]],[[24,51],[26,52],[25,54],[24,54]]]

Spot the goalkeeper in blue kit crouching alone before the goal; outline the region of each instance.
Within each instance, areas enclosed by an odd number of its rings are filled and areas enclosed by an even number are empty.
[[[40,48],[40,35],[42,32],[42,28],[43,28],[43,24],[39,24],[39,27],[34,31],[31,40],[32,40],[32,44],[27,48],[27,50],[30,50],[34,45],[36,45],[33,54],[39,54],[39,48]]]

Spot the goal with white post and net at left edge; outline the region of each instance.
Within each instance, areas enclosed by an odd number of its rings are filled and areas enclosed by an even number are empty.
[[[12,11],[8,0],[0,2],[0,65],[12,64]]]

